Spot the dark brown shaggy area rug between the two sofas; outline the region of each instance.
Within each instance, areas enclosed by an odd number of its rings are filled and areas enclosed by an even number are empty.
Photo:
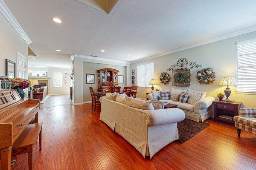
[[[209,126],[209,123],[195,122],[190,119],[184,119],[182,122],[177,123],[177,128],[179,131],[179,139],[180,143],[183,143],[193,136],[198,134],[200,131],[204,130]]]

